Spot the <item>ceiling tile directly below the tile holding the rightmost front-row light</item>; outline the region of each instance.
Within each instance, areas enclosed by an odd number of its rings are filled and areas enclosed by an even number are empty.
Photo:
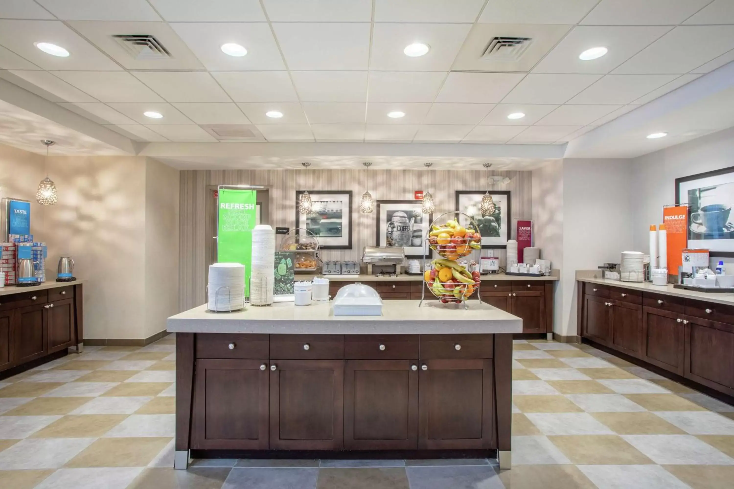
[[[502,103],[566,103],[599,78],[601,78],[599,75],[530,73],[517,84],[512,92],[509,92]]]

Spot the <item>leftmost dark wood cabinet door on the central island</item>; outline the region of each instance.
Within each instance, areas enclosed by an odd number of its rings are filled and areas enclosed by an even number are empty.
[[[197,360],[193,448],[268,448],[267,364]]]

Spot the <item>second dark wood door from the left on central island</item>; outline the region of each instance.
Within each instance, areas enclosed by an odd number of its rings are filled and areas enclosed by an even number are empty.
[[[341,449],[344,361],[273,360],[270,368],[270,448]]]

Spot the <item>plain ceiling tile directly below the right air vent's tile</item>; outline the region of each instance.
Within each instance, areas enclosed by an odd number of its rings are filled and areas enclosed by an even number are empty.
[[[448,73],[437,102],[498,103],[524,73]]]

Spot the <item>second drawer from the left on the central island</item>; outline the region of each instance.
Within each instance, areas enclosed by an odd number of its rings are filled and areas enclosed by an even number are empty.
[[[270,358],[286,360],[344,359],[342,334],[271,334]]]

